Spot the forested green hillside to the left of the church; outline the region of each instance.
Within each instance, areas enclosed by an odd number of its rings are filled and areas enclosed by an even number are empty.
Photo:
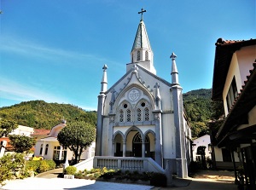
[[[0,118],[12,120],[16,124],[34,129],[50,130],[56,124],[60,124],[63,118],[67,122],[77,119],[96,125],[96,112],[85,112],[70,104],[45,101],[26,101],[11,107],[1,107]]]

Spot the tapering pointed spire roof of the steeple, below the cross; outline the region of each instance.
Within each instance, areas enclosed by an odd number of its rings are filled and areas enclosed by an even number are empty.
[[[141,49],[141,48],[151,50],[150,43],[148,40],[148,33],[146,31],[146,26],[143,20],[140,21],[137,27],[137,34],[134,39],[134,43],[131,51],[133,51],[134,49]]]

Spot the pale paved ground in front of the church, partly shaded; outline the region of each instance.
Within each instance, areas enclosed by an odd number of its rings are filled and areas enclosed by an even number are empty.
[[[136,184],[124,184],[103,181],[57,178],[61,169],[40,174],[34,178],[9,181],[0,189],[6,190],[76,190],[76,189],[111,189],[111,190],[236,190],[233,173],[229,171],[201,171],[193,178],[174,179],[175,187],[152,187]]]

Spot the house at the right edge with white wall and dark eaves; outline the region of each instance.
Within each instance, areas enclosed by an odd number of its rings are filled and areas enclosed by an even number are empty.
[[[223,101],[224,122],[214,138],[230,151],[235,176],[238,158],[247,189],[256,189],[256,39],[218,38],[215,45],[212,101]]]

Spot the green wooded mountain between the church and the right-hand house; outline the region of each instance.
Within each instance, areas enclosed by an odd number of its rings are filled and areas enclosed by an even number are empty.
[[[183,94],[183,105],[192,128],[192,137],[208,133],[207,122],[214,114],[212,109],[212,89],[195,89]]]

